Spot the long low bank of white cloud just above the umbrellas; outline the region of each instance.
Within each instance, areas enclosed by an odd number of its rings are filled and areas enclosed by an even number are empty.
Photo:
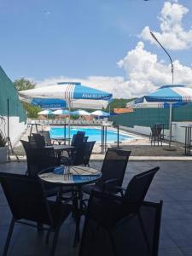
[[[192,69],[183,66],[179,61],[174,61],[173,64],[174,83],[192,87]],[[164,61],[158,61],[157,55],[144,49],[143,42],[139,42],[135,49],[127,52],[125,58],[120,60],[118,65],[125,69],[125,78],[90,76],[79,79],[61,76],[39,81],[38,86],[46,86],[61,81],[76,81],[99,90],[112,92],[115,98],[131,98],[143,96],[163,84],[172,84],[171,66],[166,65]]]

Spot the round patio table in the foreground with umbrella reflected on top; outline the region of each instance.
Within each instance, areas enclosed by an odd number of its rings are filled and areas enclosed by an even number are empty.
[[[62,188],[64,186],[71,186],[73,196],[73,206],[76,218],[76,231],[74,238],[74,245],[79,241],[80,217],[82,207],[82,186],[89,183],[95,183],[102,177],[102,172],[85,166],[66,166],[63,174],[56,174],[55,172],[40,172],[38,177],[47,183],[56,183],[60,185],[60,195],[58,201],[62,200]]]

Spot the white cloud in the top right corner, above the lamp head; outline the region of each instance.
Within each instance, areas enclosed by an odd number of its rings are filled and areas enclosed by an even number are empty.
[[[166,49],[189,49],[192,47],[192,28],[185,31],[183,28],[183,16],[189,12],[189,9],[178,3],[164,3],[160,12],[160,32],[154,32],[154,35]],[[145,26],[140,34],[144,40],[151,44],[157,44],[150,35],[150,28]]]

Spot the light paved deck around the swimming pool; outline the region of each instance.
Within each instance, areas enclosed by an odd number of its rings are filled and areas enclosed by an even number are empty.
[[[44,129],[48,128],[49,127],[44,126]],[[91,126],[91,128],[94,128],[94,126]],[[33,131],[35,132],[35,130]],[[30,127],[26,129],[21,139],[28,141],[29,132]],[[125,131],[123,131],[123,133],[125,133]],[[184,155],[184,148],[181,143],[172,143],[172,149],[175,150],[169,151],[166,150],[169,148],[168,143],[163,143],[162,146],[151,146],[148,137],[138,136],[133,133],[130,134],[136,137],[129,141],[125,141],[124,143],[119,143],[119,148],[131,150],[130,160],[192,160],[192,156]],[[108,143],[108,148],[114,147],[117,147],[117,143]],[[96,143],[93,148],[91,160],[103,160],[104,154],[101,154],[101,151],[101,144]],[[25,160],[25,152],[20,142],[15,145],[15,153],[20,155],[20,159]]]

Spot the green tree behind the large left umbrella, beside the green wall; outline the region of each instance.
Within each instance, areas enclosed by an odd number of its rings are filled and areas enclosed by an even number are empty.
[[[25,79],[25,78],[21,78],[21,79],[16,79],[15,82],[15,87],[16,90],[20,91],[20,90],[30,90],[35,88],[36,83]],[[38,117],[38,112],[41,110],[40,107],[35,107],[32,106],[29,103],[26,102],[22,102],[23,104],[23,108],[25,108],[26,112],[27,112],[27,117],[28,118],[37,118]]]

